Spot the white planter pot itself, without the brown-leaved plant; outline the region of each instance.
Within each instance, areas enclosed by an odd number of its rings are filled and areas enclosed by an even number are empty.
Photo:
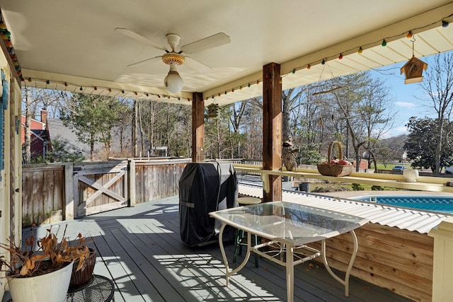
[[[7,277],[11,298],[14,302],[64,301],[69,289],[73,265],[74,262],[71,262],[62,269],[38,277]]]

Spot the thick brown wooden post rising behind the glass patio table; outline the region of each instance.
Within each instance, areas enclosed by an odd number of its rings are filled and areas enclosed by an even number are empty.
[[[263,170],[282,168],[282,83],[280,64],[263,66]],[[282,200],[282,176],[263,175],[263,201]]]

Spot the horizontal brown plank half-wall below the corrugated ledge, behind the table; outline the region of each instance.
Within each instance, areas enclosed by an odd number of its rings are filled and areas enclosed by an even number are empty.
[[[432,301],[433,238],[379,223],[367,223],[355,233],[359,250],[351,272],[353,276],[413,301]],[[321,249],[320,243],[310,245]],[[345,272],[353,246],[350,234],[329,238],[326,245],[329,265]],[[322,263],[319,258],[315,261]]]

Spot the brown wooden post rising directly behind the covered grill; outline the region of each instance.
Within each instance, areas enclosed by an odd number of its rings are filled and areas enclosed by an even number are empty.
[[[205,100],[202,93],[193,93],[192,101],[192,161],[205,160]]]

